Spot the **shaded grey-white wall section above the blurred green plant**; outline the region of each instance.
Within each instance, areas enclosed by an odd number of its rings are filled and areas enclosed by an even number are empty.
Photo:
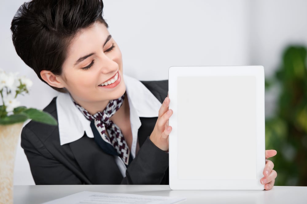
[[[286,46],[307,46],[306,0],[251,1],[250,63],[263,65],[271,77],[281,63]],[[278,87],[266,91],[266,117],[274,113]]]

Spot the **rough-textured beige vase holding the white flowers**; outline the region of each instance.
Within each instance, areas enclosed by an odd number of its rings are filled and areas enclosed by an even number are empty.
[[[0,125],[0,204],[13,204],[14,162],[22,125]]]

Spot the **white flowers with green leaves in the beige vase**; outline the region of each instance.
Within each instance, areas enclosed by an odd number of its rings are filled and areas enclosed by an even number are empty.
[[[34,108],[19,106],[17,96],[29,93],[32,81],[25,77],[17,77],[17,74],[6,73],[0,69],[0,94],[2,105],[0,106],[0,125],[8,125],[24,122],[27,119],[57,125],[57,121],[47,112]]]

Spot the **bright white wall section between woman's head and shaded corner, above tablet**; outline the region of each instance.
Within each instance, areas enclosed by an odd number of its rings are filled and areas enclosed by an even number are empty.
[[[246,0],[104,1],[124,72],[167,79],[175,65],[248,64]]]

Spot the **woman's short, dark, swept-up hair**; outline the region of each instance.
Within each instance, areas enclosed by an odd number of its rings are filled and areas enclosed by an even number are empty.
[[[44,81],[40,72],[60,75],[72,38],[96,21],[108,27],[102,0],[32,0],[21,5],[12,20],[13,44],[18,56]]]

